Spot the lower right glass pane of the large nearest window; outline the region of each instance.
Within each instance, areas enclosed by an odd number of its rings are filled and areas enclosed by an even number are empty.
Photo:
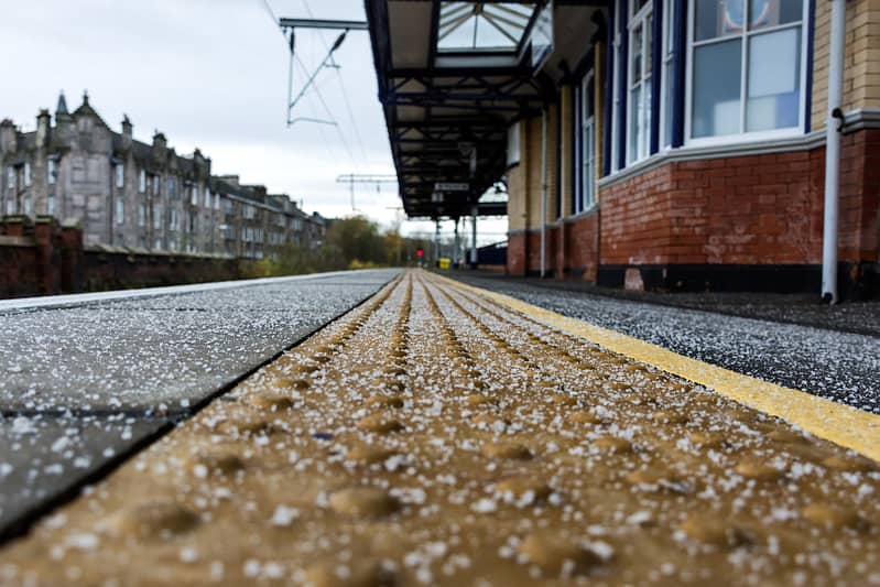
[[[796,127],[801,105],[801,28],[749,40],[746,130]]]

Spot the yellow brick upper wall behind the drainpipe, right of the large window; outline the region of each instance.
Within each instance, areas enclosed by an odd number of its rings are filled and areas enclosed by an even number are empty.
[[[880,0],[847,1],[844,111],[880,108]],[[830,2],[816,0],[811,128],[825,128]]]

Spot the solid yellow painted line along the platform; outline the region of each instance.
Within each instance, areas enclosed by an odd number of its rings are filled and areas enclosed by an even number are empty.
[[[548,326],[709,388],[754,410],[779,416],[815,436],[880,461],[880,415],[684,357],[658,345],[569,318],[508,295],[466,285],[448,278],[439,279],[455,287],[499,302]]]

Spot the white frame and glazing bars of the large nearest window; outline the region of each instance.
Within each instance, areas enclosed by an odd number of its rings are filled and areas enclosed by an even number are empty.
[[[742,0],[743,7],[743,21],[748,21],[748,7],[750,0]],[[791,137],[798,137],[806,132],[806,120],[808,112],[806,112],[806,91],[807,91],[807,26],[810,24],[810,1],[801,0],[801,20],[795,23],[776,24],[758,30],[746,30],[737,35],[729,35],[728,40],[739,39],[741,43],[740,52],[740,105],[739,105],[739,132],[723,134],[717,137],[693,137],[693,113],[694,113],[694,19],[696,18],[696,3],[687,2],[687,37],[686,37],[686,62],[685,62],[685,93],[684,93],[684,146],[713,146],[725,144],[737,144],[748,142],[760,142],[774,139],[785,139]],[[746,111],[748,107],[748,77],[749,77],[749,40],[761,35],[769,34],[776,31],[787,29],[800,29],[801,31],[801,63],[800,63],[800,87],[798,87],[798,113],[797,124],[794,127],[786,127],[773,130],[747,131],[746,130]],[[720,41],[716,41],[720,42]],[[705,41],[698,44],[708,45]]]

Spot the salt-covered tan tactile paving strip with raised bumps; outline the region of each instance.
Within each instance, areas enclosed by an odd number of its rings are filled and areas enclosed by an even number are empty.
[[[874,461],[410,272],[0,553],[10,585],[880,584]]]

